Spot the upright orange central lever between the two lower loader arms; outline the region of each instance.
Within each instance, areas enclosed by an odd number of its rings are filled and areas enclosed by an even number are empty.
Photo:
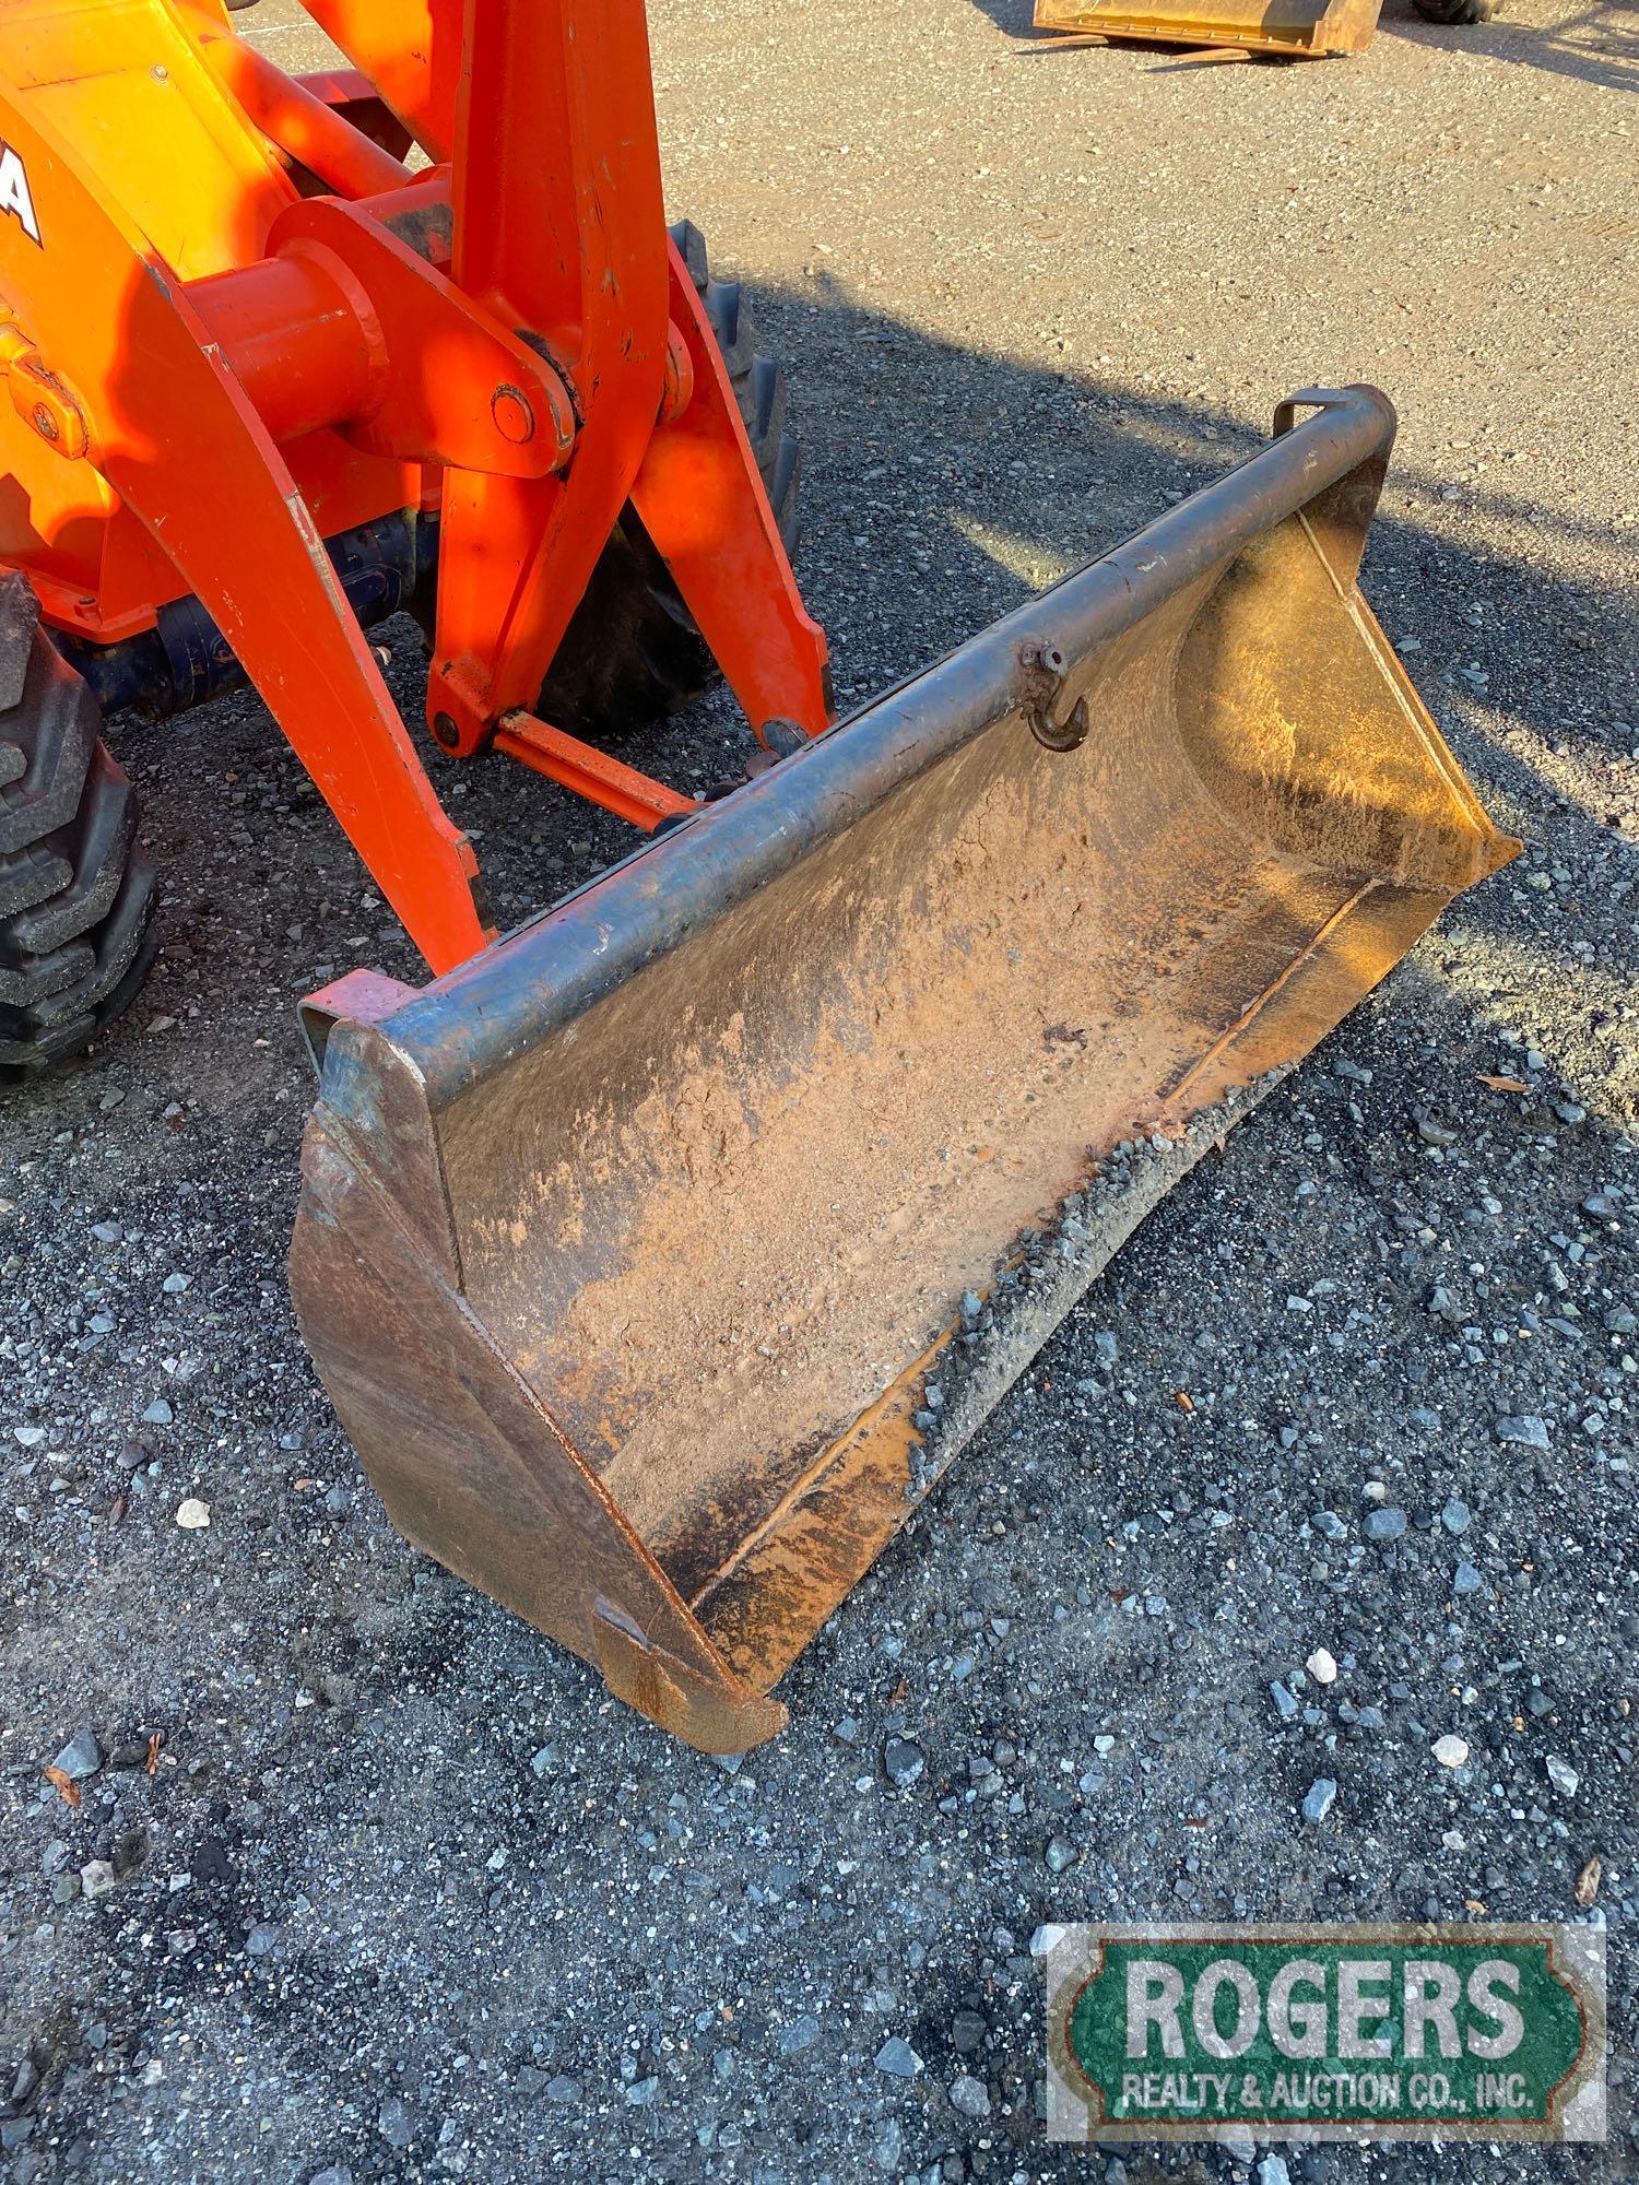
[[[667,385],[667,229],[642,0],[485,0],[457,94],[459,288],[568,365],[559,479],[446,472],[428,719],[474,752],[540,699]],[[439,730],[448,739],[448,730]]]

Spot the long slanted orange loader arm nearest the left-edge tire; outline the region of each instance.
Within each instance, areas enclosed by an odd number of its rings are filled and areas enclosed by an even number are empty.
[[[0,221],[0,286],[44,358],[72,356],[90,461],[160,540],[435,970],[492,940],[313,518],[181,282],[0,76],[50,256]],[[72,267],[72,280],[63,277]]]

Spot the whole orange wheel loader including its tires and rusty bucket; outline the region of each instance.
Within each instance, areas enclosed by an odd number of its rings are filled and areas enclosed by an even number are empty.
[[[426,959],[310,996],[291,1283],[393,1521],[695,1746],[1069,1304],[1512,846],[1364,605],[1366,389],[835,721],[782,391],[667,232],[640,0],[0,0],[0,1066],[151,872],[98,706],[247,680]],[[426,725],[649,841],[496,935]],[[721,669],[769,765],[603,749]]]

